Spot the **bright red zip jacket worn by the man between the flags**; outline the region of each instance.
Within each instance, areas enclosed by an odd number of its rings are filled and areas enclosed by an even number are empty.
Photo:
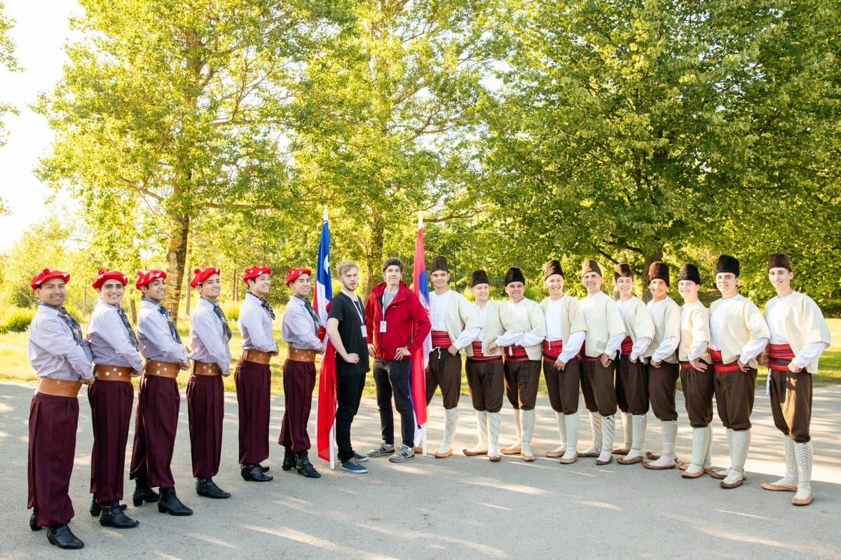
[[[432,325],[429,322],[429,313],[421,305],[421,300],[405,283],[400,282],[394,299],[385,309],[385,332],[380,332],[384,292],[384,282],[371,290],[368,303],[365,304],[365,328],[368,330],[368,344],[373,343],[374,357],[394,360],[399,347],[407,346],[411,353],[415,346],[423,344]]]

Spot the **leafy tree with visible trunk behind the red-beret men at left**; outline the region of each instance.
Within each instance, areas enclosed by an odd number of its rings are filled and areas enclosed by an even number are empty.
[[[195,225],[298,211],[282,196],[293,184],[283,152],[287,82],[342,5],[80,4],[85,14],[72,27],[82,39],[38,105],[56,131],[39,175],[82,201],[120,258],[145,264],[166,248],[167,306],[177,317]]]

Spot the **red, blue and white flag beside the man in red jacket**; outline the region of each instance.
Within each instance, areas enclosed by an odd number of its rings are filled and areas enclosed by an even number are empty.
[[[418,214],[418,235],[415,240],[415,270],[412,276],[412,288],[421,300],[421,305],[429,313],[429,278],[426,276],[426,262],[423,258],[423,215]],[[426,335],[422,345],[415,346],[410,358],[410,394],[412,409],[415,410],[415,446],[420,441],[426,455],[426,366],[429,365],[429,353],[432,351],[432,335]]]

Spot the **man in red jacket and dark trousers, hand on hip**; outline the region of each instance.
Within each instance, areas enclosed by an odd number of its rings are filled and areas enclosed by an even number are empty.
[[[431,329],[429,314],[403,282],[403,262],[383,262],[385,282],[377,284],[365,305],[368,352],[373,355],[373,381],[377,387],[379,423],[383,441],[368,452],[369,457],[391,455],[390,462],[415,457],[415,416],[409,397],[409,357]],[[402,445],[394,449],[394,408],[400,415]]]

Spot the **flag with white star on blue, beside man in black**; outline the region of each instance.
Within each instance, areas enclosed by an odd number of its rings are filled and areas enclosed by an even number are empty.
[[[319,337],[326,342],[321,357],[321,371],[318,383],[318,419],[316,420],[316,446],[318,456],[336,468],[336,447],[333,446],[336,424],[336,351],[325,333],[327,312],[333,298],[333,284],[330,277],[330,229],[327,227],[327,207],[324,207],[324,221],[321,225],[321,242],[318,247],[318,262],[315,267],[315,294],[313,308],[319,316]]]

